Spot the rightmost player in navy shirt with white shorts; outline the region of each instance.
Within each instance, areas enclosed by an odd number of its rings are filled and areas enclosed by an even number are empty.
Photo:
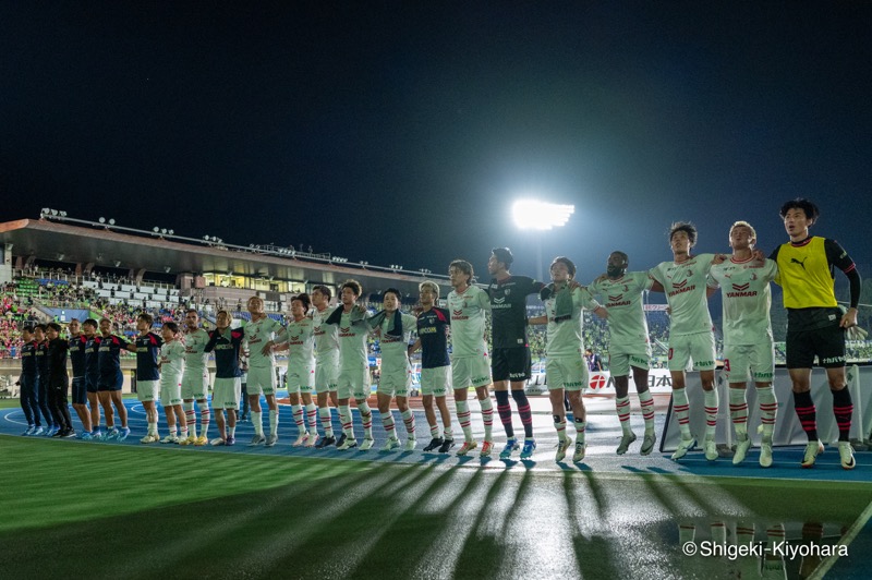
[[[417,287],[422,311],[417,315],[417,340],[410,349],[421,349],[421,402],[429,425],[431,442],[425,451],[438,450],[447,454],[455,446],[451,432],[451,413],[448,412],[446,396],[451,389],[451,360],[448,358],[448,331],[451,328],[451,313],[436,306],[439,300],[439,286],[425,280]],[[445,431],[439,430],[433,401],[439,408]]]

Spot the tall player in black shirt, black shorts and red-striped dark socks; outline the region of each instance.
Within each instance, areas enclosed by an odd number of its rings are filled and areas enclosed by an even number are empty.
[[[530,341],[526,337],[526,297],[538,293],[545,285],[526,276],[512,276],[509,268],[513,261],[514,256],[508,247],[495,247],[487,261],[487,271],[493,276],[488,287],[493,324],[491,368],[497,397],[497,411],[507,437],[506,447],[499,454],[499,458],[509,459],[512,451],[519,447],[511,423],[509,404],[509,384],[511,384],[511,398],[518,404],[518,414],[521,415],[521,423],[524,426],[521,459],[529,459],[536,448],[536,442],[533,439],[533,413],[524,392],[531,376]],[[482,415],[484,416],[484,410]],[[487,418],[484,416],[484,420],[486,422]],[[485,455],[484,448],[482,455]]]

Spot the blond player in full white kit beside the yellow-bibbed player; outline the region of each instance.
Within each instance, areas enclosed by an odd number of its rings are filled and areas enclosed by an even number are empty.
[[[775,347],[770,322],[770,282],[778,274],[778,265],[753,255],[755,242],[756,232],[750,223],[734,223],[729,230],[732,257],[712,266],[708,286],[719,287],[724,298],[724,372],[729,383],[729,414],[737,439],[732,463],[741,463],[751,446],[744,389],[747,382],[753,379],[763,432],[760,464],[767,468],[772,466],[772,432],[778,410],[772,387]]]

